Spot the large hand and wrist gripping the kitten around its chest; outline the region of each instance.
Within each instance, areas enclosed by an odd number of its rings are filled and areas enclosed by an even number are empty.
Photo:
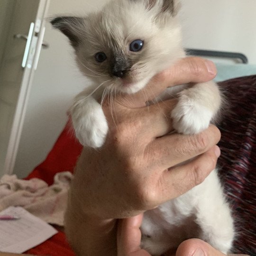
[[[66,234],[77,255],[148,255],[139,249],[141,218],[136,217],[135,227],[127,218],[187,192],[214,169],[220,155],[218,128],[169,134],[176,99],[151,106],[146,101],[169,86],[208,82],[215,75],[212,62],[188,57],[156,75],[143,92],[103,103],[110,127],[106,142],[98,150],[83,149],[66,212]],[[125,224],[118,219],[126,219]],[[133,254],[136,250],[142,254]]]

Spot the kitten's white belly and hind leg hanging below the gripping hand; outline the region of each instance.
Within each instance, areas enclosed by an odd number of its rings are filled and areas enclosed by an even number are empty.
[[[195,237],[228,253],[234,239],[233,219],[217,170],[189,192],[146,211],[141,230],[141,245],[154,256]]]

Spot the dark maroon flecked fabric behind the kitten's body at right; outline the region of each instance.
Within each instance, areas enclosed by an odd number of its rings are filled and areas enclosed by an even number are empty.
[[[229,106],[219,126],[218,163],[236,220],[234,252],[256,256],[256,76],[221,85]]]

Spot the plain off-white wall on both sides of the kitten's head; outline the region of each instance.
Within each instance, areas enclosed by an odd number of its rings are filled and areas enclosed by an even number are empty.
[[[52,0],[49,16],[84,14],[105,0]],[[246,4],[245,4],[246,3]],[[256,0],[183,0],[184,46],[238,51],[256,63]],[[67,121],[73,96],[88,84],[77,71],[67,39],[49,24],[28,103],[14,172],[26,176],[42,162]]]

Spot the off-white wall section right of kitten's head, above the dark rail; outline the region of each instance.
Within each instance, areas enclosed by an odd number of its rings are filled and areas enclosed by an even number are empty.
[[[184,46],[240,52],[256,64],[256,0],[183,0]]]

